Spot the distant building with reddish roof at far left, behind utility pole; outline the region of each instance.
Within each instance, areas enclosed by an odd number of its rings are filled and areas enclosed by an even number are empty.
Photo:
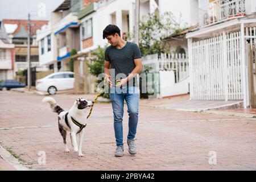
[[[11,60],[12,74],[7,74],[7,78],[14,79],[16,72],[19,70],[27,69],[27,20],[19,19],[3,19],[1,23],[1,37],[2,45],[9,43],[14,45],[13,51],[6,49],[2,51],[2,57],[8,57]],[[44,68],[39,67],[39,56],[38,56],[38,44],[36,42],[36,30],[41,28],[47,21],[44,20],[31,20],[31,67],[37,67],[37,71],[41,71]],[[10,46],[9,46],[10,47]],[[11,46],[13,47],[13,46]],[[9,65],[10,65],[9,64]],[[11,76],[12,75],[12,76]]]

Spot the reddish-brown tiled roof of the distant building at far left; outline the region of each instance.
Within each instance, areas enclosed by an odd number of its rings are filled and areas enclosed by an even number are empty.
[[[15,31],[11,34],[14,36],[20,31],[24,35],[24,32],[27,34],[27,20],[21,19],[3,19],[3,24],[7,27],[17,27]],[[47,20],[30,20],[31,22],[31,35],[36,35],[36,30],[40,29],[44,24],[47,24]],[[11,26],[13,24],[13,26]],[[16,26],[15,26],[16,25]]]

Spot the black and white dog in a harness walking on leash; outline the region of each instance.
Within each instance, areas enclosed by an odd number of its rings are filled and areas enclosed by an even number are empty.
[[[66,142],[67,132],[69,131],[75,152],[78,151],[80,157],[84,156],[82,154],[82,138],[84,137],[86,117],[89,108],[93,106],[93,102],[79,98],[69,111],[64,111],[52,97],[45,97],[42,102],[47,102],[51,106],[52,111],[58,114],[59,131],[63,137],[65,152],[70,152]],[[77,139],[79,139],[79,145],[77,145]]]

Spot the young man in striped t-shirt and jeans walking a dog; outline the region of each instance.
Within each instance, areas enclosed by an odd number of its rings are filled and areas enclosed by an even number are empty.
[[[124,100],[129,113],[127,144],[129,153],[135,155],[137,153],[135,134],[139,114],[137,75],[142,71],[141,51],[139,51],[137,44],[123,40],[119,28],[113,24],[109,24],[103,31],[103,39],[105,38],[111,44],[106,48],[104,72],[108,76],[110,100],[114,114],[115,141],[117,142],[115,156],[123,156],[122,121]]]

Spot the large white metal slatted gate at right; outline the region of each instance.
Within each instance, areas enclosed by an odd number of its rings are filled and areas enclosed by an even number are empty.
[[[192,100],[242,100],[241,32],[191,43]]]

